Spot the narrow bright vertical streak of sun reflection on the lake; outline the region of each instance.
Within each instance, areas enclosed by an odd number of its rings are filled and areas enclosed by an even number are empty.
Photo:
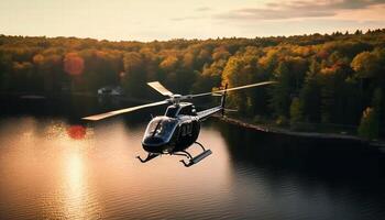
[[[90,136],[92,130],[81,125],[53,122],[46,128],[43,138],[51,142],[51,146],[56,147],[50,147],[47,152],[50,155],[56,155],[52,158],[55,161],[46,161],[54,166],[52,170],[56,173],[54,197],[50,196],[45,205],[47,216],[65,219],[100,218],[98,201],[90,191],[87,169],[87,152],[91,147]]]

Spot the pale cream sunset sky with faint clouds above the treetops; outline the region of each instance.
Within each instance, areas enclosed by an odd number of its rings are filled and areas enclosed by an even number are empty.
[[[385,0],[1,0],[0,34],[110,41],[385,28]]]

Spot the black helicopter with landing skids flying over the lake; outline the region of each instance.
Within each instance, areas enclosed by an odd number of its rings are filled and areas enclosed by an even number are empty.
[[[160,94],[162,94],[163,96],[168,97],[166,100],[90,116],[82,119],[98,121],[117,114],[168,103],[170,106],[167,107],[165,114],[153,118],[145,130],[142,140],[142,145],[144,151],[147,152],[147,157],[144,160],[140,156],[136,157],[142,163],[146,163],[150,160],[153,160],[162,154],[179,155],[187,157],[188,162],[185,162],[184,160],[182,160],[180,162],[186,167],[189,167],[212,153],[210,150],[206,150],[202,144],[197,142],[200,131],[200,122],[217,112],[221,112],[223,116],[226,110],[224,105],[227,92],[251,87],[270,85],[274,82],[275,81],[263,81],[234,88],[227,88],[228,85],[226,85],[224,89],[222,90],[182,96],[170,92],[158,81],[152,81],[147,82],[147,85],[156,91],[158,91]],[[197,112],[195,106],[191,102],[182,102],[183,100],[204,96],[221,96],[220,106]],[[190,153],[188,153],[187,148],[190,147],[193,144],[199,145],[202,148],[202,153],[198,154],[197,156],[193,156]]]

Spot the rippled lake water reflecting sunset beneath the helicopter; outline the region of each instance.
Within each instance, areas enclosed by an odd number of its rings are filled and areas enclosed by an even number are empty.
[[[72,98],[2,103],[0,219],[385,216],[385,156],[354,142],[209,119],[198,141],[212,155],[188,168],[176,156],[142,164],[135,156],[146,155],[141,140],[152,110],[85,123],[80,117],[124,105]]]

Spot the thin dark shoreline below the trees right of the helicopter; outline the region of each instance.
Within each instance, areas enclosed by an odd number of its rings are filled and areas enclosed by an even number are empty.
[[[349,140],[349,141],[356,141],[364,145],[376,147],[380,151],[385,153],[385,142],[384,141],[369,141],[355,135],[349,135],[349,134],[337,134],[337,133],[320,133],[320,132],[299,132],[299,131],[290,131],[288,129],[282,129],[282,128],[268,128],[266,125],[261,124],[253,124],[248,123],[239,119],[229,118],[229,117],[215,117],[216,119],[223,121],[226,123],[234,124],[238,127],[242,127],[245,129],[251,129],[260,132],[266,132],[266,133],[275,133],[275,134],[284,134],[284,135],[290,135],[290,136],[299,136],[299,138],[315,138],[315,139],[338,139],[338,140]]]

